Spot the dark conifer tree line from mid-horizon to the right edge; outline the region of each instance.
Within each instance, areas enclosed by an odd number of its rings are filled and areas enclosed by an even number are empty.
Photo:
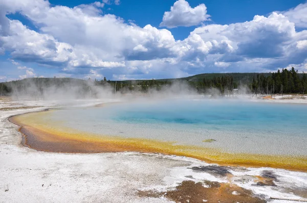
[[[245,74],[245,73],[242,73]],[[97,81],[96,84],[111,85],[117,92],[122,93],[128,91],[148,92],[155,89],[161,90],[162,87],[171,86],[175,82],[186,82],[190,90],[196,90],[198,93],[210,93],[212,88],[220,91],[221,94],[230,94],[239,87],[246,87],[249,93],[253,94],[306,94],[307,93],[307,77],[306,74],[299,74],[292,67],[291,70],[282,69],[270,74],[254,73],[250,79],[235,81],[232,75],[213,76],[213,78],[203,79],[176,79],[176,80],[146,80],[146,81]],[[175,83],[177,84],[177,83]]]

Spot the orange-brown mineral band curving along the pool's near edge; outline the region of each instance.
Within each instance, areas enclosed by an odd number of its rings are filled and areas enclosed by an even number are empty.
[[[64,128],[60,122],[42,121],[48,112],[13,116],[9,120],[20,126],[23,145],[56,153],[105,153],[138,151],[186,156],[223,166],[272,167],[307,172],[307,156],[231,154],[201,146],[174,145],[159,140],[103,136]]]

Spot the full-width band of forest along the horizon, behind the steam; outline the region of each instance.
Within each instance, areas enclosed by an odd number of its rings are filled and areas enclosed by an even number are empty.
[[[212,89],[218,90],[220,94],[233,94],[237,89],[245,87],[252,94],[306,94],[306,74],[298,73],[292,67],[291,70],[282,69],[273,73],[210,73],[201,77],[188,77],[182,79],[162,80],[139,80],[139,81],[110,81],[103,80],[81,80],[71,78],[29,78],[20,81],[0,83],[0,95],[10,95],[12,92],[18,94],[43,94],[48,87],[71,88],[78,86],[78,91],[83,95],[86,92],[94,92],[92,87],[109,88],[114,93],[148,93],[150,91],[161,91],[172,86],[185,84],[188,91],[196,91],[200,94],[210,94]],[[235,75],[235,79],[233,77]],[[248,77],[247,77],[248,76]],[[33,89],[37,89],[33,91]],[[32,91],[31,91],[32,90]],[[95,94],[90,94],[95,95]]]

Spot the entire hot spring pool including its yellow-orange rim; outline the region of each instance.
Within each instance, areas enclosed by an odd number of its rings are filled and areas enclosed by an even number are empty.
[[[25,134],[58,135],[63,142],[101,142],[102,148],[118,145],[120,151],[307,170],[307,105],[236,99],[144,99],[30,113],[15,120],[24,126]],[[41,138],[39,143],[55,142],[48,139]]]

